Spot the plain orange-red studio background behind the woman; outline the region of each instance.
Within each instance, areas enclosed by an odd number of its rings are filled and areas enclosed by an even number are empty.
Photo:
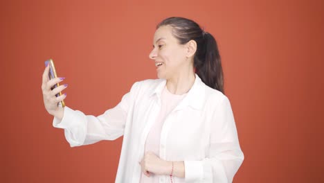
[[[137,80],[156,24],[212,33],[244,162],[233,182],[323,182],[323,1],[1,1],[1,182],[114,182],[123,137],[71,148],[44,108],[44,61],[66,105],[99,115]]]

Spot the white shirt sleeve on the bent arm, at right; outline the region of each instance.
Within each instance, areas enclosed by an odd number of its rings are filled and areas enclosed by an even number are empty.
[[[185,182],[232,182],[244,160],[231,103],[226,96],[216,107],[210,127],[208,156],[184,162]]]

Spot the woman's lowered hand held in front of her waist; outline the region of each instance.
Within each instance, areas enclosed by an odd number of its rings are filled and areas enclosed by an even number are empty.
[[[165,174],[165,169],[168,168],[168,162],[160,159],[151,151],[147,151],[141,162],[138,163],[142,167],[142,172],[147,177],[150,177],[151,173],[163,175]]]

